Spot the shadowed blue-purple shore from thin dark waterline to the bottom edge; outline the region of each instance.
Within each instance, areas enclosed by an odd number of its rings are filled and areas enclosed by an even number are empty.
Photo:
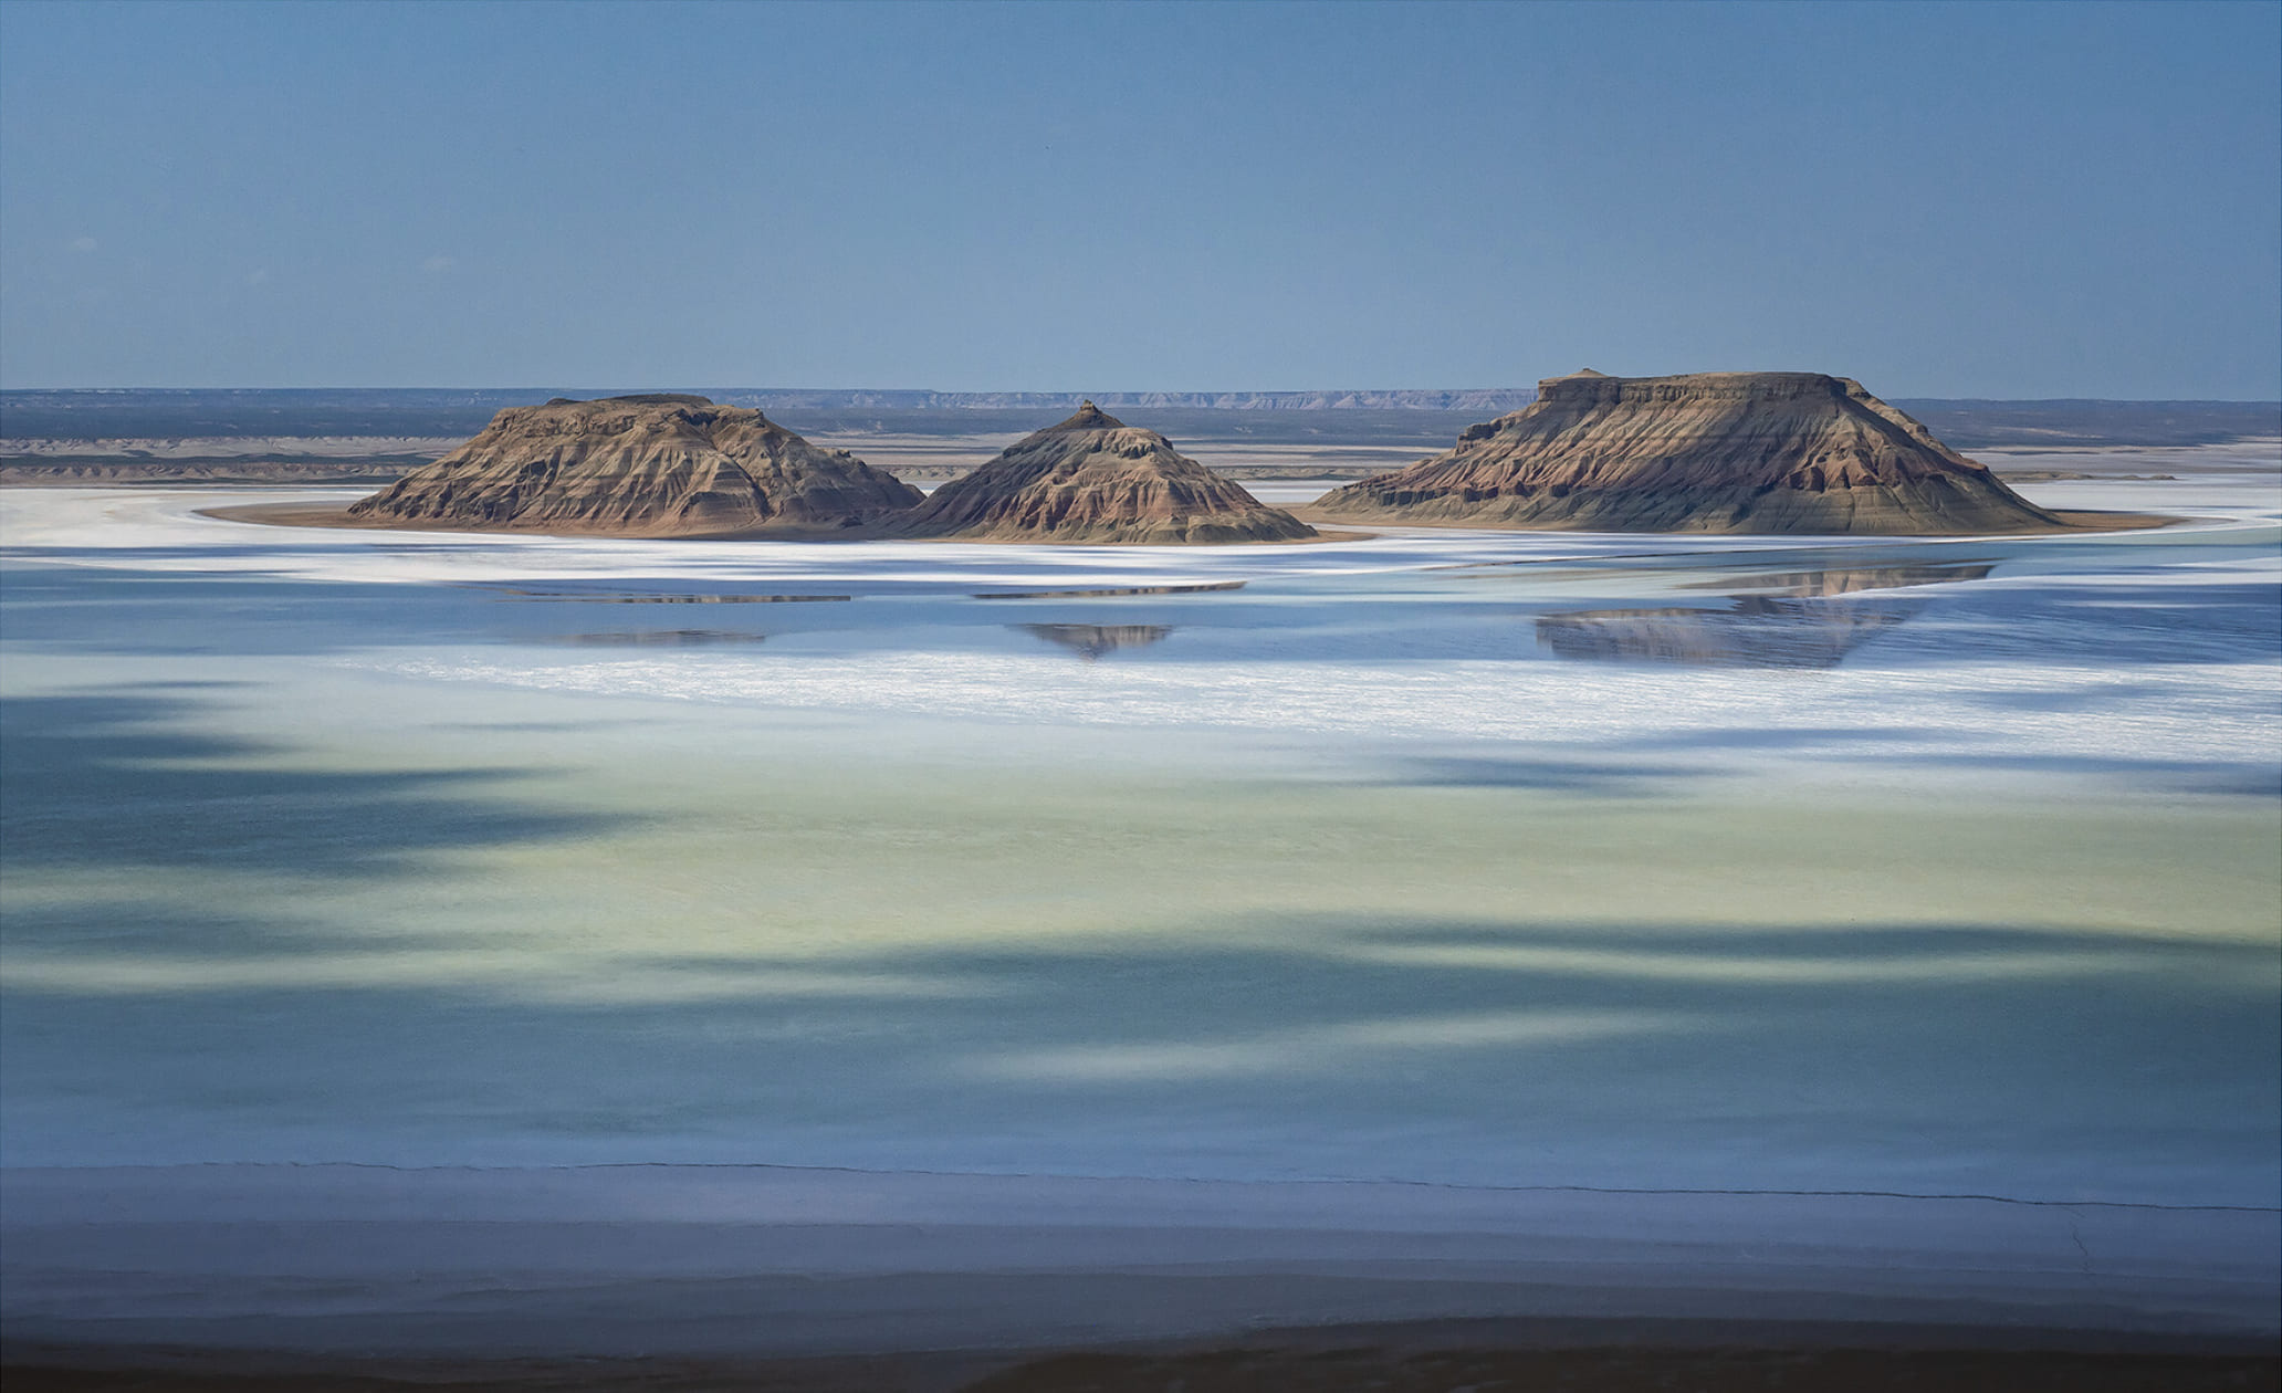
[[[7,1393],[2273,1388],[2243,1206],[0,1167]]]

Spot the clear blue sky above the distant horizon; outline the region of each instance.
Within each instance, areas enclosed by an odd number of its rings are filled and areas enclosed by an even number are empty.
[[[2282,5],[0,5],[0,384],[2282,397]]]

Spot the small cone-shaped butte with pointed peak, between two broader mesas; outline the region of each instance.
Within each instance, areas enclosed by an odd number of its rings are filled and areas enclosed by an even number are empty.
[[[895,518],[908,537],[974,541],[1296,541],[1314,537],[1280,507],[1086,402],[1077,416],[1009,445]]]

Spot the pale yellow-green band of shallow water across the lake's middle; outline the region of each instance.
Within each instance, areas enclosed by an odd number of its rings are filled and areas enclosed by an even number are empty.
[[[1707,945],[1734,927],[1807,925],[2271,945],[2282,918],[2282,822],[2264,799],[1864,799],[1723,786],[1641,799],[1406,783],[1374,751],[1344,763],[1255,751],[1209,767],[1207,756],[1225,754],[1212,742],[1136,758],[1111,733],[555,706],[609,717],[424,717],[388,731],[358,722],[324,744],[153,760],[141,783],[128,774],[153,822],[194,815],[205,797],[199,770],[260,774],[249,790],[226,790],[240,808],[322,797],[326,779],[358,786],[390,763],[470,776],[447,783],[468,790],[463,808],[422,813],[438,827],[399,829],[404,845],[386,854],[319,845],[308,859],[246,859],[228,854],[228,827],[215,827],[192,834],[208,840],[196,854],[173,856],[155,854],[148,831],[137,845],[135,827],[119,827],[110,852],[18,859],[14,907],[105,907],[112,929],[43,941],[37,955],[18,936],[14,980],[139,993],[372,984],[671,1000],[851,982],[913,991],[895,984],[892,955],[906,950],[1294,943],[1326,920],[1602,925],[1616,939],[1684,929]],[[294,779],[317,783],[276,792]],[[189,811],[169,813],[169,797]],[[411,797],[424,806],[427,792]],[[388,824],[404,806],[383,792],[370,818]],[[365,834],[365,818],[333,829]],[[171,907],[233,907],[288,927],[169,943]],[[1476,966],[1529,961],[1502,952]],[[723,987],[744,959],[808,975],[769,987],[748,968],[742,987]],[[863,968],[837,975],[833,959]],[[1634,971],[1814,980],[1889,968],[1643,959]]]

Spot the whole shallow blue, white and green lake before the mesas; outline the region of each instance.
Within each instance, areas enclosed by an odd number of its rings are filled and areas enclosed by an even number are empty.
[[[2275,475],[2029,493],[2198,521],[644,543],[9,491],[0,1160],[2271,1206]]]

